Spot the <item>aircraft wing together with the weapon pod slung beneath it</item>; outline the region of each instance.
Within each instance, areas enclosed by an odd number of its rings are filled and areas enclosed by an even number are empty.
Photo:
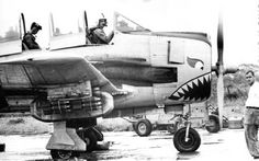
[[[127,93],[83,57],[9,59],[0,62],[0,72],[9,107],[12,102],[18,106],[18,97],[32,100],[32,116],[43,122],[106,115],[114,108],[113,96]]]

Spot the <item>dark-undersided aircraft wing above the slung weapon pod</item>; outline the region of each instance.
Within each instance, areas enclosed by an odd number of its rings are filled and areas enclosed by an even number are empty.
[[[85,57],[80,56],[25,56],[0,61],[0,67],[20,67],[24,70],[32,88],[47,88],[91,80],[102,91],[111,94],[121,92]],[[14,69],[15,69],[14,68]]]

